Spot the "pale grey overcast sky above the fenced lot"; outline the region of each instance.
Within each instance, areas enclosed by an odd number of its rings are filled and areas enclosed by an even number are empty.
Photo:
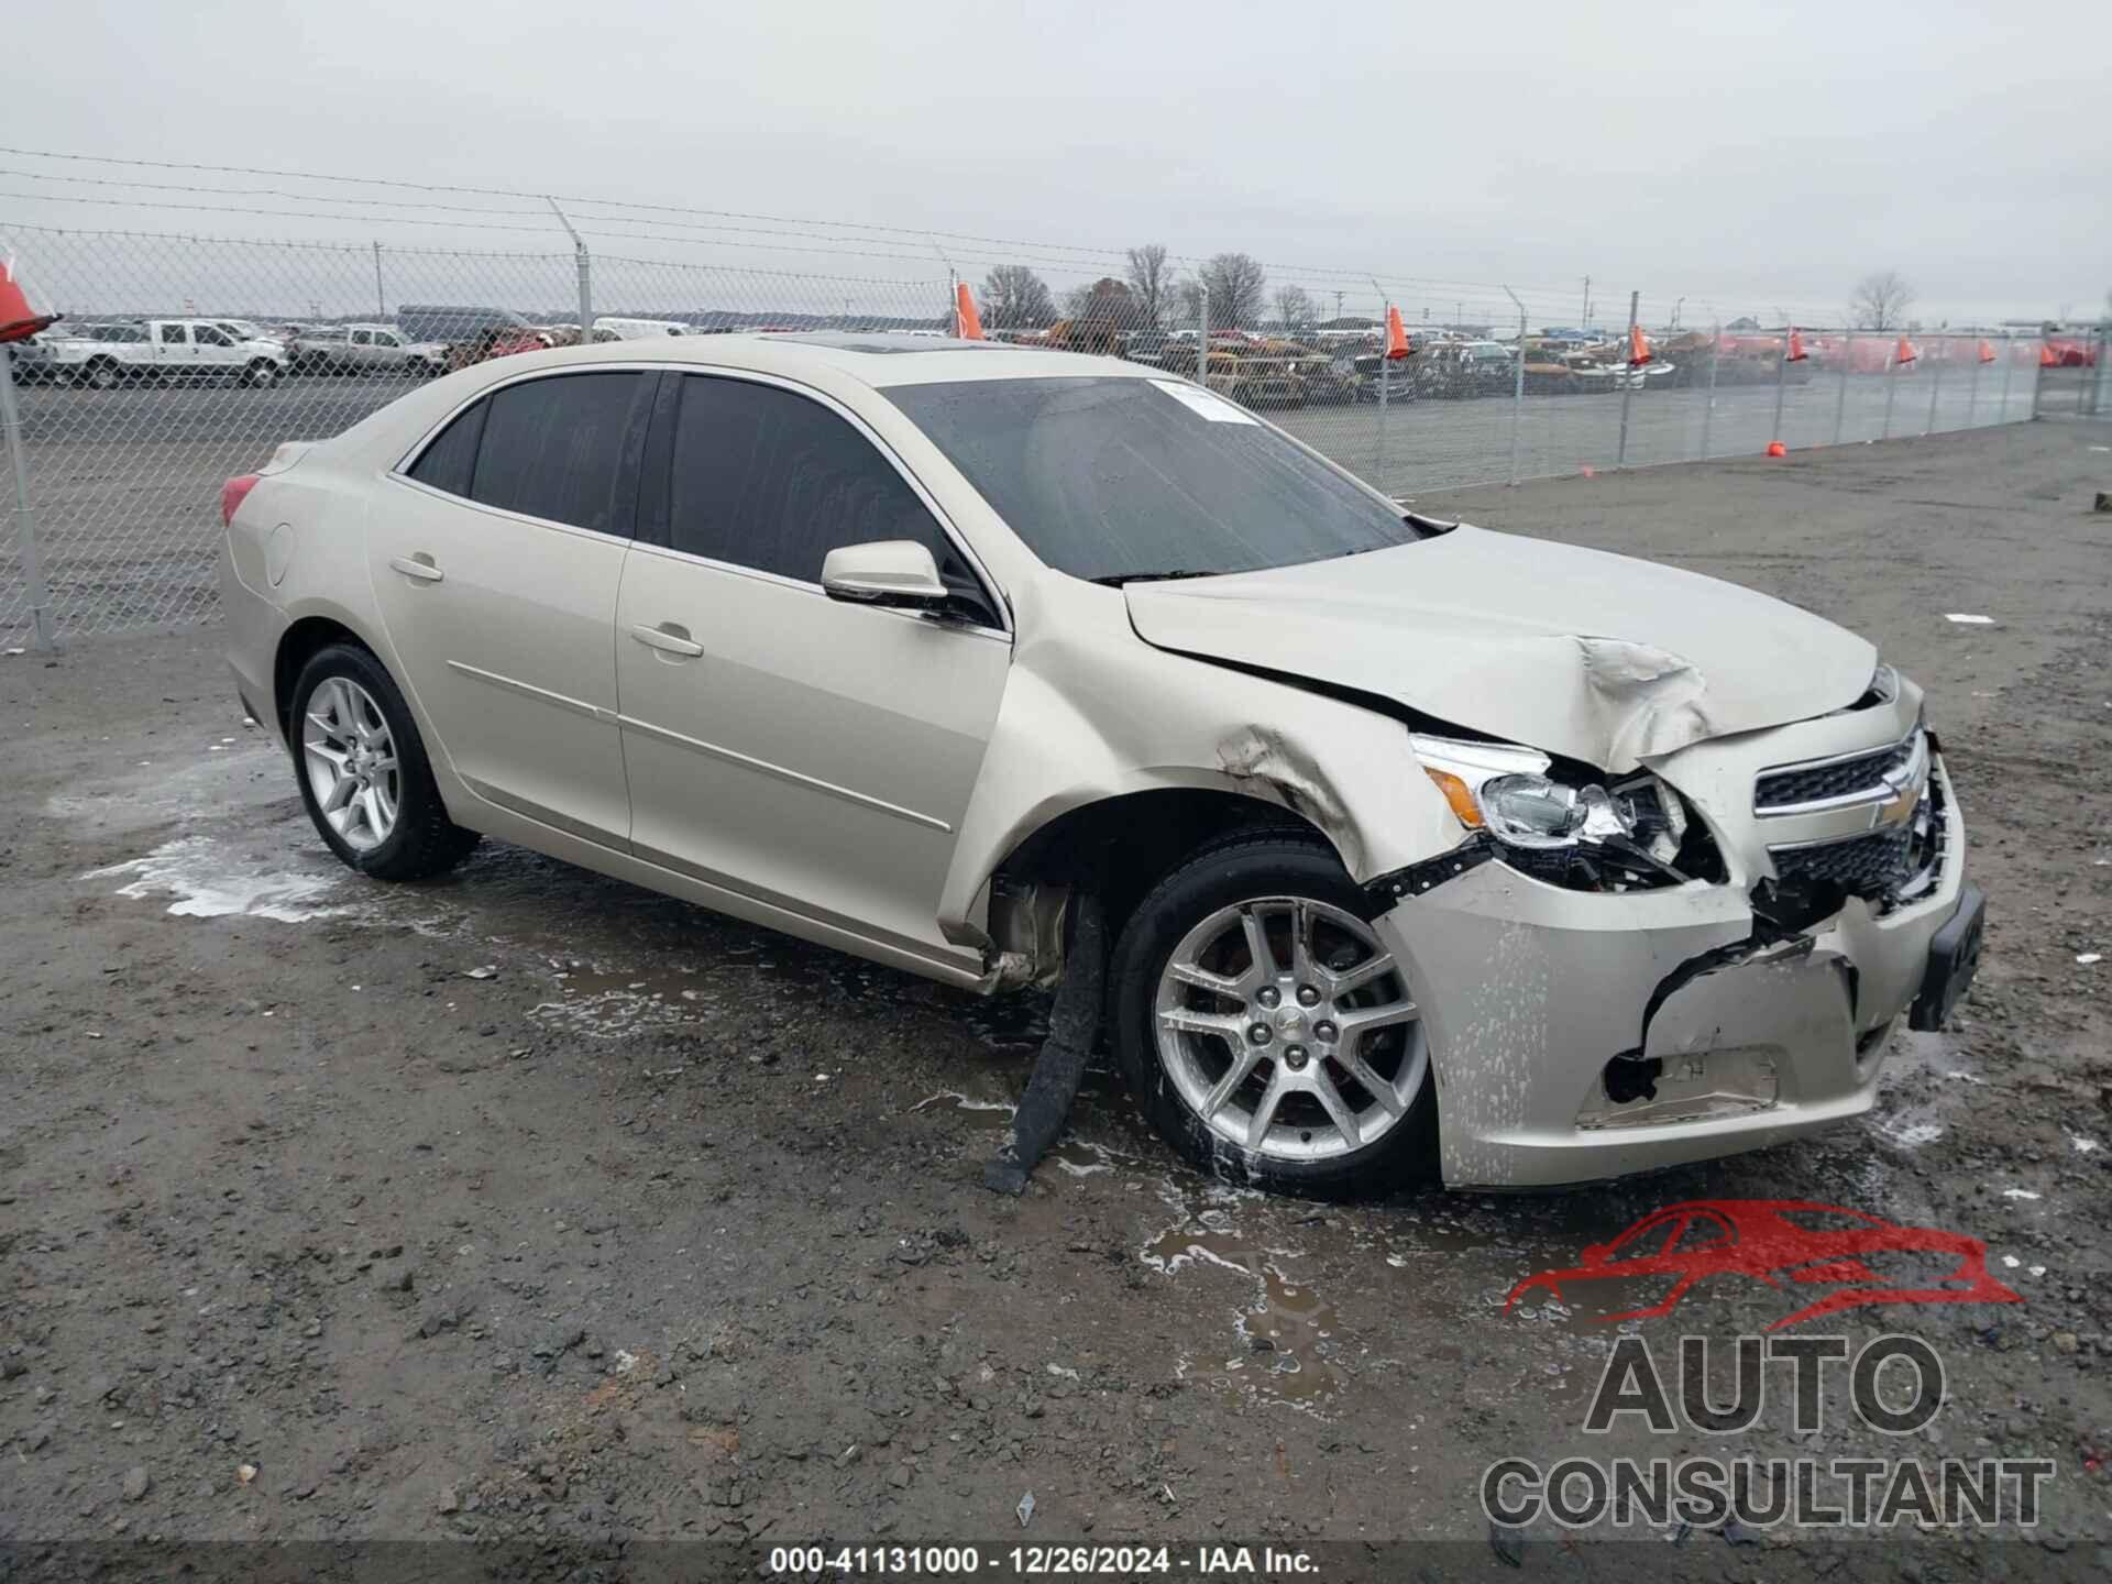
[[[1930,323],[2095,315],[2112,287],[2104,0],[68,0],[11,8],[8,57],[0,142],[17,148],[1020,239],[942,241],[972,279],[1010,253],[1062,258],[1050,245],[1162,241],[1255,253],[1316,294],[1377,275],[1438,317],[1508,281],[1552,321],[1586,272],[1605,313],[1639,287],[1645,317],[1683,296],[1687,321],[1837,317],[1886,266]],[[38,180],[258,177],[0,167],[0,234],[549,243],[372,205],[357,224],[61,205],[321,207]],[[655,256],[919,272],[773,253],[760,230],[667,234]]]

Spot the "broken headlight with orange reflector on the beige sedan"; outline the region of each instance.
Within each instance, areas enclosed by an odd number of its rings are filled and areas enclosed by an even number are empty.
[[[1673,866],[1687,809],[1656,775],[1607,784],[1533,748],[1413,733],[1415,756],[1468,830],[1512,868],[1557,885],[1626,889],[1687,879]]]

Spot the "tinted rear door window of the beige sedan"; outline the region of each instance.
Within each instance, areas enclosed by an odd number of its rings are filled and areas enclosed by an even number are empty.
[[[648,391],[644,374],[560,374],[492,393],[482,403],[488,412],[469,498],[627,534],[631,524],[619,522],[623,452]]]

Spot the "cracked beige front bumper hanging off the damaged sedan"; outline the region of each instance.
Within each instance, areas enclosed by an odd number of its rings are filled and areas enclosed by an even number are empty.
[[[1956,917],[1977,950],[1949,807],[1924,898],[1882,914],[1850,898],[1791,940],[1755,940],[1747,885],[1586,893],[1504,864],[1381,914],[1430,1037],[1445,1181],[1588,1183],[1867,1111],[1892,1020],[1932,978],[1956,991],[1943,953],[1930,974],[1937,934]]]

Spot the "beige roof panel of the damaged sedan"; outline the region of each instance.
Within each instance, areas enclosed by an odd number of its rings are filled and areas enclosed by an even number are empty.
[[[593,363],[710,363],[798,378],[819,370],[849,376],[874,391],[959,380],[1121,378],[1164,380],[1166,370],[1119,357],[1010,346],[950,336],[857,332],[788,332],[762,336],[665,336],[562,346],[530,353],[539,367]],[[526,361],[526,359],[522,359]],[[507,359],[515,363],[515,359]],[[517,365],[517,363],[515,363]]]

